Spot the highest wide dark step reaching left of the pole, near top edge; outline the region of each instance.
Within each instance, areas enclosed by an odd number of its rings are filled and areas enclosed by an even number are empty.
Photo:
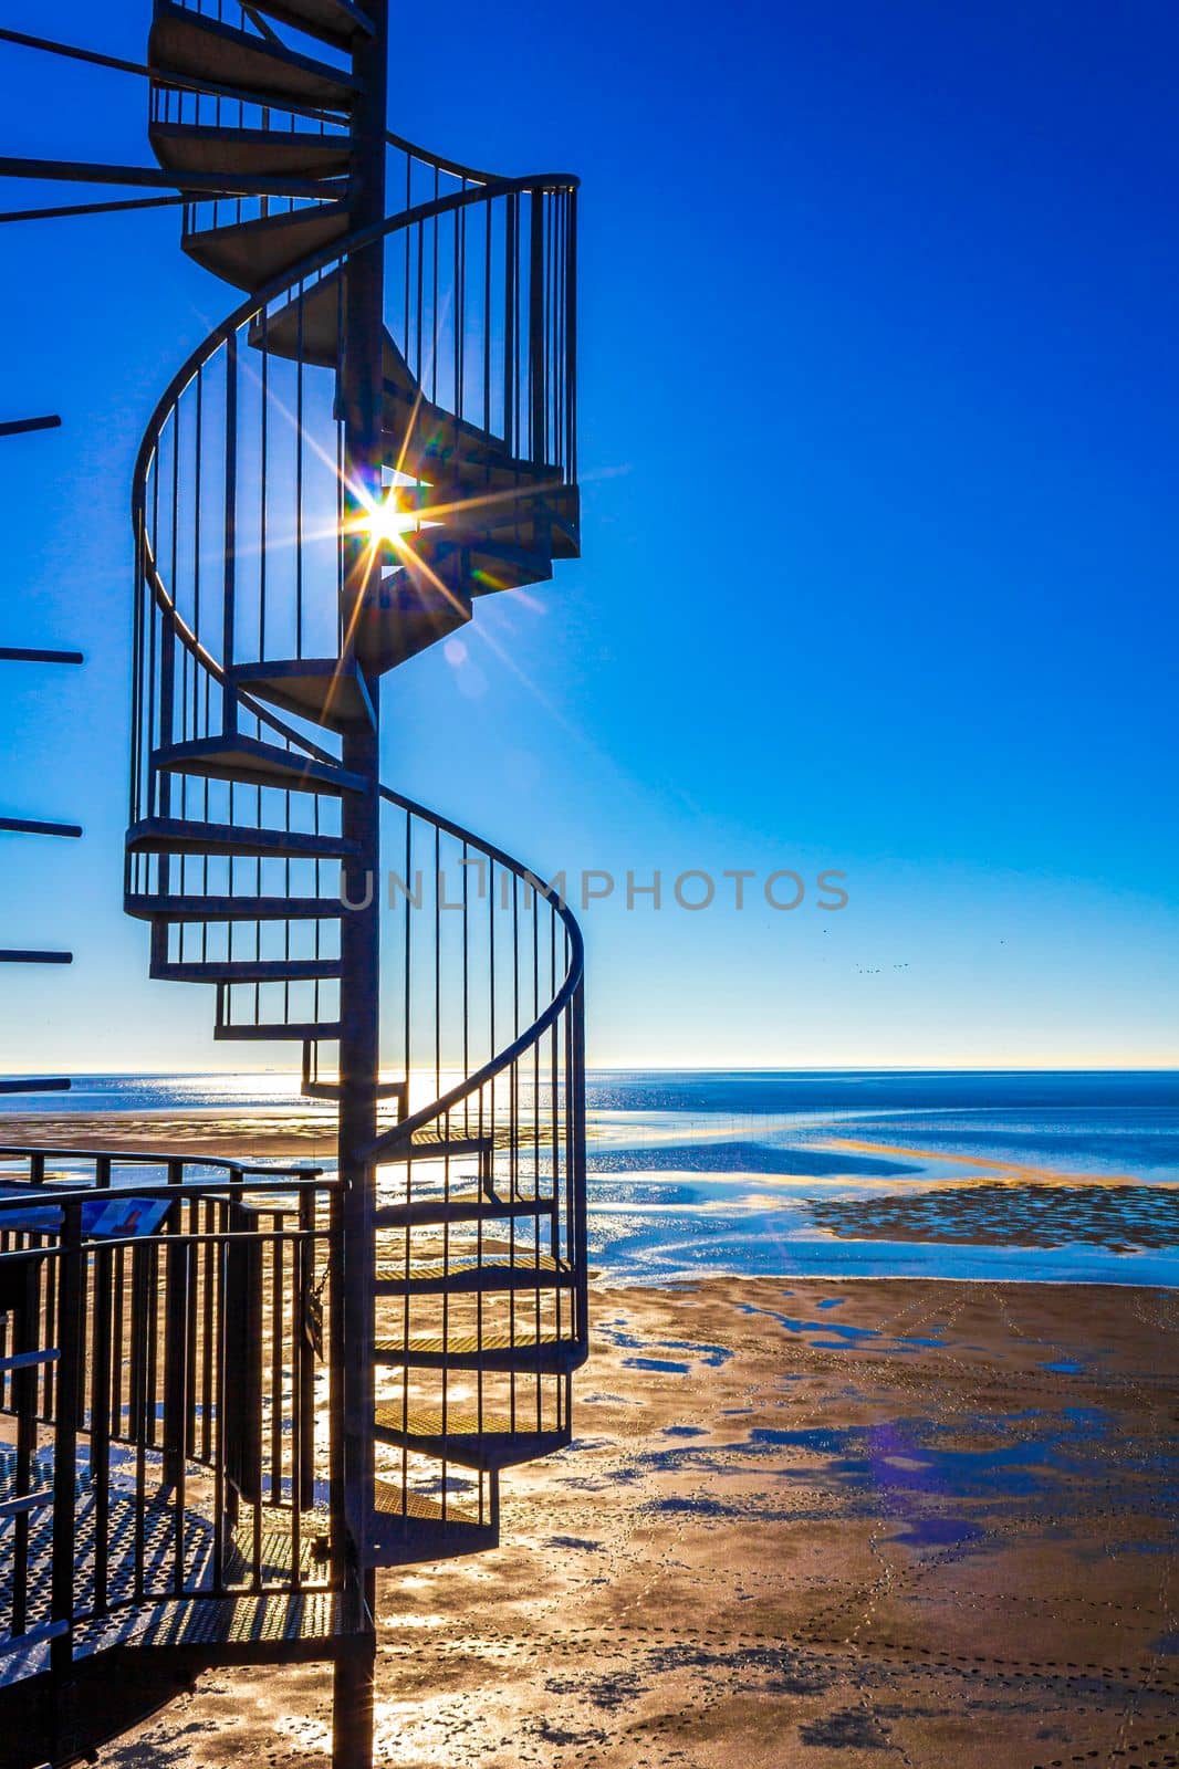
[[[340,67],[297,55],[267,37],[205,18],[173,0],[156,0],[147,44],[152,74],[179,74],[195,85],[237,87],[269,99],[347,111],[358,90]]]

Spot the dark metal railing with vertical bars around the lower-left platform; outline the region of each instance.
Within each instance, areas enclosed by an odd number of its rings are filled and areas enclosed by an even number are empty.
[[[46,1171],[66,1155],[89,1183]],[[158,1606],[342,1589],[336,1182],[0,1159],[27,1168],[0,1198],[0,1682]],[[168,1178],[112,1185],[124,1164]]]

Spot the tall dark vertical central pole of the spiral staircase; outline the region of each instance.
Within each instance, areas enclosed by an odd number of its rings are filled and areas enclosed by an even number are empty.
[[[388,0],[370,0],[372,37],[354,39],[358,96],[352,111],[349,232],[384,221],[388,103]],[[370,568],[368,540],[356,532],[365,506],[381,497],[384,384],[384,241],[347,260],[343,304],[343,596],[342,656],[352,658]],[[374,1169],[363,1150],[377,1134],[381,1072],[381,685],[368,679],[370,729],[343,738],[342,762],[363,793],[343,796],[343,835],[356,844],[345,869],[349,909],[340,932],[340,1178],[343,1182],[343,1516],[345,1627],[335,1668],[333,1769],[370,1769],[375,1663],[375,1578],[368,1566],[374,1509]]]

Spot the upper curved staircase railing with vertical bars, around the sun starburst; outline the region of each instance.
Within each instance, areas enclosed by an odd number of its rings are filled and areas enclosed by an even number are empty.
[[[533,474],[538,472],[545,485],[566,486],[568,495],[575,495],[572,202],[572,180],[501,180],[427,203],[349,242],[349,251],[377,241],[388,251],[395,242],[402,269],[411,267],[409,304],[405,276],[389,281],[402,297],[389,331],[411,373],[425,384],[423,398],[430,398],[428,448],[443,460],[450,460],[455,448],[478,455],[480,433],[506,432],[497,451],[503,453],[505,440],[508,449],[522,451],[520,485],[535,490]],[[528,214],[528,228],[520,223],[522,214]],[[460,223],[467,226],[466,241]],[[439,234],[443,226],[451,228],[446,239]],[[444,302],[435,299],[427,267],[446,244],[448,249],[458,246],[471,262],[474,253],[485,269],[489,249],[499,251],[512,234],[515,258],[499,262],[497,301],[489,306],[485,283],[474,331],[467,324],[467,304],[460,302],[457,318],[462,324],[453,322],[448,333]],[[540,318],[528,325],[503,311],[505,304],[524,302],[524,253],[540,302]],[[292,301],[331,276],[338,262],[338,248],[315,255],[299,272],[243,302],[189,356],[152,416],[133,486],[131,824],[198,819],[281,830],[308,837],[306,854],[243,860],[131,851],[126,900],[133,913],[150,913],[168,899],[204,897],[212,918],[218,907],[243,895],[274,902],[297,899],[310,906],[335,888],[340,854],[333,844],[340,819],[338,801],[329,794],[251,789],[186,773],[173,777],[161,762],[175,745],[237,732],[278,745],[301,764],[338,764],[336,754],[324,747],[331,736],[322,729],[310,736],[304,725],[296,729],[276,718],[234,679],[235,665],[246,660],[347,653],[338,612],[343,492],[335,373],[310,363],[297,348],[294,361],[273,348],[257,348],[271,343],[269,334],[283,324]],[[494,338],[505,329],[512,348],[499,361]],[[457,407],[450,417],[443,412],[448,402]],[[490,465],[483,478],[494,483],[482,485],[478,458],[469,472],[473,483],[464,508],[467,502],[473,509],[490,508],[501,518],[505,504],[510,508],[520,495],[517,486],[499,483],[503,476]],[[448,497],[451,511],[453,502],[453,495]],[[427,508],[405,522],[416,532],[428,532],[432,517]],[[559,509],[556,517],[561,518]],[[216,955],[211,938],[209,922],[181,922],[166,950],[158,938],[154,959],[158,964],[207,961]],[[278,948],[266,945],[260,920],[227,922],[220,938],[227,961],[258,962],[271,952],[299,957],[326,973],[338,953],[329,918],[301,915],[297,904]],[[269,985],[253,987],[253,1017],[266,1024]],[[283,1021],[333,1024],[333,992],[328,975],[308,973],[297,984],[283,984]],[[239,1007],[241,998],[232,1005]]]

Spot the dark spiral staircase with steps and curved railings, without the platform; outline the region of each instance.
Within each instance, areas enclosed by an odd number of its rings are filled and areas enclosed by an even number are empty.
[[[382,5],[154,5],[152,150],[246,299],[136,463],[124,899],[338,1107],[361,1589],[497,1541],[586,1355],[577,925],[377,778],[382,678],[577,557],[577,184],[389,134],[386,60]]]

